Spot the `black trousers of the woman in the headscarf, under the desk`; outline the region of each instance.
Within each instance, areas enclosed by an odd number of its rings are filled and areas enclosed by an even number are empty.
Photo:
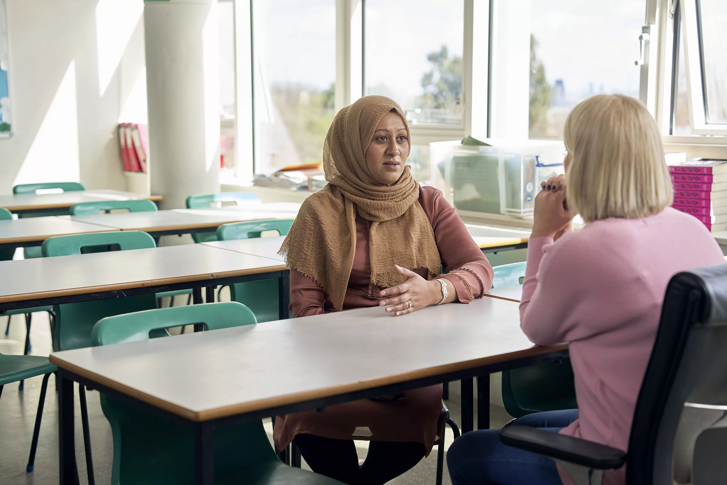
[[[348,485],[383,485],[413,468],[427,452],[423,444],[411,441],[371,441],[359,467],[353,440],[300,434],[294,441],[314,472]]]

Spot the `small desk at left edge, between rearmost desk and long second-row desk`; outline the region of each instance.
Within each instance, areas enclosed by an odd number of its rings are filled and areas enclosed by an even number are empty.
[[[40,246],[43,241],[53,236],[109,231],[119,230],[60,217],[25,217],[18,220],[0,220],[0,249]]]

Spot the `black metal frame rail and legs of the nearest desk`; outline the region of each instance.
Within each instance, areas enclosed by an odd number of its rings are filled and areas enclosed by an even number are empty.
[[[514,358],[510,361],[486,364],[483,366],[473,367],[471,369],[462,369],[460,371],[448,372],[446,374],[422,377],[416,380],[383,385],[377,388],[369,388],[364,390],[352,391],[350,393],[342,393],[337,396],[328,396],[325,398],[316,398],[309,401],[302,401],[299,403],[273,406],[267,409],[259,409],[257,411],[238,414],[235,416],[220,417],[216,420],[209,420],[206,422],[190,421],[185,417],[181,417],[177,414],[173,414],[172,412],[165,411],[164,409],[159,409],[155,406],[152,406],[151,404],[139,401],[135,398],[132,398],[131,396],[121,393],[118,390],[108,388],[105,385],[100,385],[97,382],[87,379],[86,377],[81,377],[78,374],[73,374],[73,372],[69,372],[62,368],[59,368],[58,375],[60,377],[61,384],[58,400],[59,403],[71,404],[71,406],[59,406],[60,415],[58,417],[58,436],[60,436],[60,485],[79,484],[78,470],[76,468],[76,448],[75,442],[73,441],[73,381],[81,382],[84,385],[92,385],[93,388],[99,390],[100,392],[106,393],[113,398],[132,404],[133,406],[140,407],[141,409],[145,409],[150,413],[156,414],[160,417],[164,417],[164,419],[176,422],[180,425],[191,426],[195,430],[197,429],[197,427],[206,428],[206,430],[204,431],[200,430],[198,432],[195,432],[195,470],[199,469],[201,470],[200,473],[202,473],[202,476],[198,476],[198,472],[195,471],[195,484],[207,485],[212,484],[212,473],[214,471],[214,466],[211,465],[212,458],[206,457],[206,454],[212,453],[212,444],[208,444],[204,433],[209,433],[210,436],[212,436],[212,432],[215,428],[234,426],[244,422],[262,420],[262,418],[264,417],[278,416],[282,414],[289,414],[292,412],[301,412],[308,411],[310,409],[324,408],[326,406],[333,406],[334,404],[357,401],[358,399],[372,398],[375,396],[380,396],[382,394],[398,394],[405,390],[423,388],[427,385],[435,385],[441,382],[451,380],[471,380],[473,379],[473,377],[487,376],[492,372],[501,372],[507,369],[516,369],[518,367],[540,364],[542,362],[558,360],[560,358],[566,358],[568,356],[568,350],[555,350],[550,353],[541,353],[537,356]],[[472,406],[471,400],[470,406]],[[65,429],[67,427],[68,432]],[[197,435],[197,433],[200,433],[199,436]]]

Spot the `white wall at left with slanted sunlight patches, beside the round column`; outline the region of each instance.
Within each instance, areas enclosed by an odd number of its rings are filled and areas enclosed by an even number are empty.
[[[0,140],[0,193],[72,180],[125,189],[116,125],[122,112],[145,118],[137,12],[142,0],[7,0],[14,135]]]

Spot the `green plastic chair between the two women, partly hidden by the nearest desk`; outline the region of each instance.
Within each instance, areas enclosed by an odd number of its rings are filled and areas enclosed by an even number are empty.
[[[495,266],[492,287],[514,286],[525,278],[526,262]],[[507,414],[521,417],[539,411],[576,409],[571,359],[502,371],[502,402]]]

